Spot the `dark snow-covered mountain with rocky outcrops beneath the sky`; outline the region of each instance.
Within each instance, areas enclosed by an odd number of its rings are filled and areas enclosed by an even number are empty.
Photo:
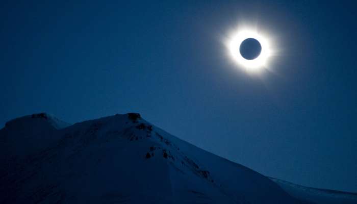
[[[73,125],[44,113],[14,119],[0,130],[0,161],[0,203],[294,204],[334,193],[300,193],[136,113]],[[357,203],[344,195],[328,203]]]

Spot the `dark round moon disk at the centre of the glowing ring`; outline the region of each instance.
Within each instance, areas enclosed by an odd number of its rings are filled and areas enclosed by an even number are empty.
[[[254,38],[247,38],[239,46],[239,52],[244,59],[253,60],[262,52],[262,45]]]

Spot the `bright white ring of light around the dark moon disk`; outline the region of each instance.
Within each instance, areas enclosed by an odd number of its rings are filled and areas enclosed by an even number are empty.
[[[241,43],[247,38],[254,38],[259,41],[262,46],[260,55],[253,60],[247,60],[242,57],[239,52]],[[252,30],[240,30],[232,34],[225,42],[228,52],[233,60],[242,68],[249,72],[257,72],[267,67],[268,58],[271,56],[271,48],[264,35]]]

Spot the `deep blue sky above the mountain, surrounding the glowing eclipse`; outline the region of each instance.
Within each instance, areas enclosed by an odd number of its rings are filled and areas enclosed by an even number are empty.
[[[75,2],[2,3],[0,124],[139,112],[265,175],[357,192],[353,1]],[[282,50],[260,78],[222,43],[243,21]]]

